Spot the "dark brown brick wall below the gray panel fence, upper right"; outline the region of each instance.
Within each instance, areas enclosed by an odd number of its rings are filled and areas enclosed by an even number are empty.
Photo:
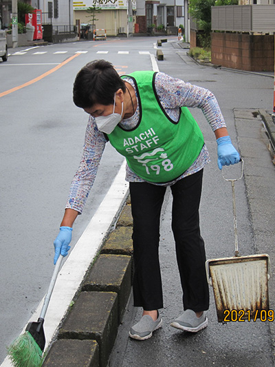
[[[250,72],[274,71],[274,35],[215,33],[211,62]]]

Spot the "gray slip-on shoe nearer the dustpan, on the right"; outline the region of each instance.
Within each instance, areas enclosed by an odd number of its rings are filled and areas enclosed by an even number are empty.
[[[204,312],[201,317],[197,317],[194,311],[186,310],[170,325],[174,328],[179,328],[180,330],[197,333],[197,331],[201,330],[202,328],[206,328],[208,325],[208,319]]]

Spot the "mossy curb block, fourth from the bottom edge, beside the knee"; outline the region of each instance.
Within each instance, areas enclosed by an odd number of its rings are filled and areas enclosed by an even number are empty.
[[[133,255],[132,227],[117,227],[105,241],[101,253]]]

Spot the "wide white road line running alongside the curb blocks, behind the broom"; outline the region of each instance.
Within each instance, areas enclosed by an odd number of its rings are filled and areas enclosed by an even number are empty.
[[[124,200],[126,200],[128,183],[125,181],[125,165],[126,160],[122,163],[118,174],[115,176],[109,191],[102,200],[94,217],[91,218],[83,235],[81,235],[74,249],[69,254],[67,261],[61,268],[45,316],[45,348],[50,344],[58,324],[67,312],[67,308],[71,304],[89,265],[96,257],[107,232],[113,224],[113,219],[117,216]],[[37,321],[43,302],[44,300],[41,301],[29,322]],[[22,333],[24,332],[25,328]],[[12,367],[8,357],[5,358],[1,367]]]

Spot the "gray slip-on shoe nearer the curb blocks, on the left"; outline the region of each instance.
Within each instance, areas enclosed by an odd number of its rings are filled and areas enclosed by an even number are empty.
[[[137,324],[135,324],[130,330],[130,337],[137,340],[149,339],[153,335],[153,331],[162,326],[162,318],[160,315],[156,321],[149,315],[144,315]]]

